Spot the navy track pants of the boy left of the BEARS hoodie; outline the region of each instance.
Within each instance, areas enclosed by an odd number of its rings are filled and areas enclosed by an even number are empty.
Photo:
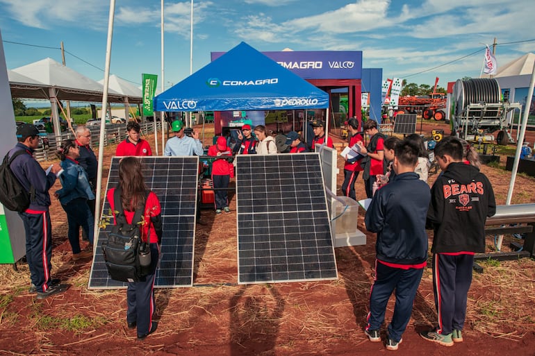
[[[411,319],[413,301],[423,269],[397,269],[375,260],[375,281],[370,293],[370,312],[366,330],[379,330],[384,321],[388,299],[395,289],[395,307],[388,325],[390,339],[400,341]]]

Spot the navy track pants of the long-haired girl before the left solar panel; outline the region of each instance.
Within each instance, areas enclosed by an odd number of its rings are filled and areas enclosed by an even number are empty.
[[[138,325],[138,336],[148,334],[152,326],[152,316],[156,310],[154,300],[154,277],[158,265],[158,244],[150,244],[151,248],[151,274],[145,276],[140,282],[129,282],[126,289],[126,321]]]

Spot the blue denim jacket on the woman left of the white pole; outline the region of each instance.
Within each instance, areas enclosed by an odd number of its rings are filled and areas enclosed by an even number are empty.
[[[56,191],[62,205],[76,198],[94,199],[94,194],[89,185],[88,173],[75,161],[65,158],[61,162],[63,173],[60,175],[62,189]]]

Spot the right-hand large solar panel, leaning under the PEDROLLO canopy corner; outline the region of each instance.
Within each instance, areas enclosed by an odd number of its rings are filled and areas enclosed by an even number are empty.
[[[338,278],[318,153],[236,164],[238,283]]]

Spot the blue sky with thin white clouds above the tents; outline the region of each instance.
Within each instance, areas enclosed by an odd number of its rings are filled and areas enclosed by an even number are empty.
[[[61,62],[63,41],[68,67],[104,77],[110,1],[0,0],[0,9],[8,69],[47,57]],[[161,1],[116,0],[111,74],[138,85],[142,73],[158,74],[161,87],[160,19]],[[534,2],[195,0],[193,34],[194,72],[211,51],[245,41],[259,51],[363,51],[363,67],[383,68],[384,78],[433,85],[438,76],[445,87],[479,77],[484,44],[494,37],[498,67],[535,52]],[[190,1],[165,0],[165,87],[189,74]]]

